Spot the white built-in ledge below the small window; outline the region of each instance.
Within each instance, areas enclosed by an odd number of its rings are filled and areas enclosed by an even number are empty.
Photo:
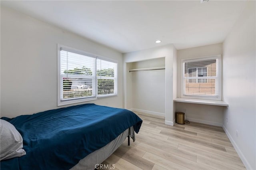
[[[173,101],[182,102],[182,103],[196,103],[196,104],[202,104],[202,105],[216,105],[216,106],[228,107],[227,103],[219,100],[176,98]]]

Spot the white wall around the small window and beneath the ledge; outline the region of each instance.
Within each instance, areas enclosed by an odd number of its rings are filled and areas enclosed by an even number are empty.
[[[193,47],[187,49],[180,49],[177,51],[177,97],[181,97],[181,76],[182,76],[182,59],[203,57],[208,55],[222,55],[222,43],[205,45],[200,47]],[[212,105],[197,105],[191,103],[176,103],[176,111],[184,112],[186,109],[186,119],[198,123],[208,125],[222,126],[222,109],[223,107]]]

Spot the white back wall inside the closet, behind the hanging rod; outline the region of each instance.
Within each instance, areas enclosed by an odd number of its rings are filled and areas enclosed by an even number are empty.
[[[134,62],[133,69],[165,66],[165,58]],[[136,71],[132,74],[134,111],[165,115],[165,70]]]

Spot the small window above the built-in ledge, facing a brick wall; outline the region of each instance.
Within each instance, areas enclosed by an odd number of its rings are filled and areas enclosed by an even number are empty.
[[[221,100],[220,55],[182,61],[182,97]]]

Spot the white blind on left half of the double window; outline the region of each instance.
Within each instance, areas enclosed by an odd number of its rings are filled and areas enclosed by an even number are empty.
[[[60,65],[60,99],[62,101],[96,96],[96,58],[61,50]]]

